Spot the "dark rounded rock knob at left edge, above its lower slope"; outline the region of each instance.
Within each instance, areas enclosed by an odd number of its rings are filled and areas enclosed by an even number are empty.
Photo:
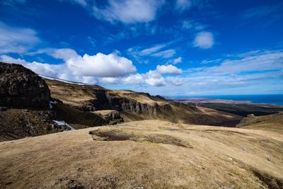
[[[0,106],[47,108],[49,101],[44,79],[20,64],[0,62]]]

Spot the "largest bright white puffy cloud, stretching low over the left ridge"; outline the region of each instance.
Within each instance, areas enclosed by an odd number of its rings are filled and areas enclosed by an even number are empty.
[[[71,49],[45,50],[48,55],[63,59],[62,64],[43,64],[40,62],[26,62],[24,59],[15,59],[8,55],[1,55],[0,60],[8,63],[23,64],[37,74],[52,76],[70,81],[95,81],[97,77],[103,78],[103,83],[113,83],[112,78],[127,76],[136,73],[137,69],[132,61],[120,57],[117,53],[104,55],[83,55],[81,57]],[[91,82],[93,83],[93,82]]]

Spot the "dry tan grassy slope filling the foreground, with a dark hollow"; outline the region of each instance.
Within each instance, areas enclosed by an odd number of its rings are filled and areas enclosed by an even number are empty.
[[[0,188],[282,188],[283,134],[161,120],[0,143]]]

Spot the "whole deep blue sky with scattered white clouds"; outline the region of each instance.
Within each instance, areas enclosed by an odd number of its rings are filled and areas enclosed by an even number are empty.
[[[0,1],[0,61],[162,96],[283,93],[282,34],[282,1]]]

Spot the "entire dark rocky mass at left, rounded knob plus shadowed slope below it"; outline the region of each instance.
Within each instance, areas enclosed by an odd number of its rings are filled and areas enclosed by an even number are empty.
[[[0,62],[0,141],[69,130],[58,124],[65,121],[76,128],[107,124],[96,114],[55,103],[45,79],[30,69]]]

